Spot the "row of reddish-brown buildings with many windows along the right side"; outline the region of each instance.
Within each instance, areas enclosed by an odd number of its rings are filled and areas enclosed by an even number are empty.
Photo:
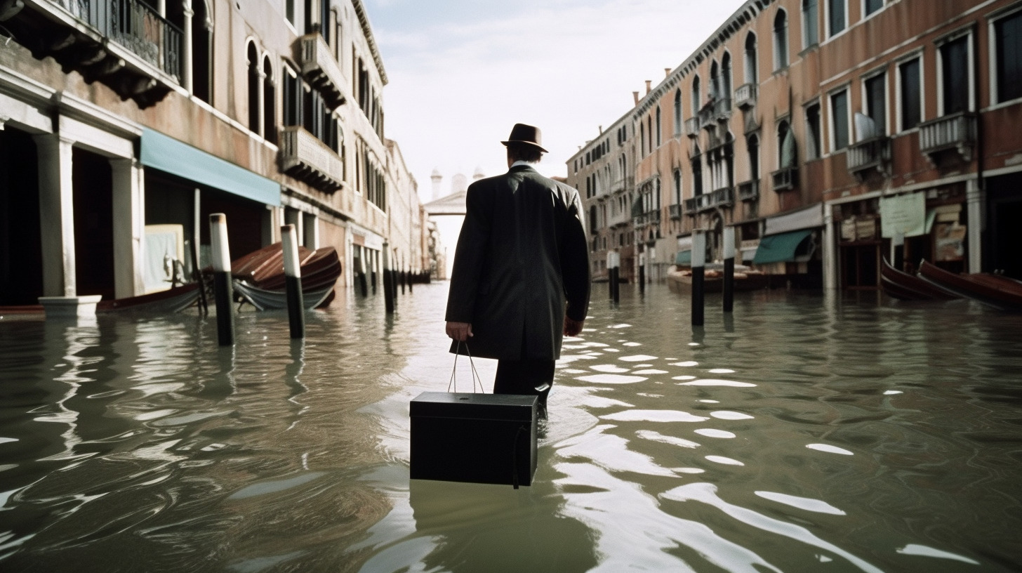
[[[618,120],[635,264],[686,264],[695,229],[719,260],[732,226],[794,285],[875,290],[901,244],[910,267],[1020,278],[1020,114],[1016,0],[750,0]],[[601,145],[568,161],[579,189]]]

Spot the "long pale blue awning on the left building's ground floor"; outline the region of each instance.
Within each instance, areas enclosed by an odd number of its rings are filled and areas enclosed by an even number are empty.
[[[142,132],[142,165],[264,205],[280,207],[280,183],[158,131],[146,129]]]

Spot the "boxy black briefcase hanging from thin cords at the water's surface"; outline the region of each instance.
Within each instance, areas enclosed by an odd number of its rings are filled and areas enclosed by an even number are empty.
[[[423,392],[412,400],[414,480],[531,485],[537,396]]]

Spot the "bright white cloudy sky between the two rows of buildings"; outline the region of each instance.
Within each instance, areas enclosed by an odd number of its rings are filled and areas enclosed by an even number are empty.
[[[541,172],[633,107],[743,0],[365,0],[389,84],[386,136],[431,199],[429,175],[507,170],[511,127],[543,130]]]

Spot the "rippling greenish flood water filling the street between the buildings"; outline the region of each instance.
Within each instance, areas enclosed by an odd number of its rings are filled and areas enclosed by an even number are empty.
[[[446,283],[392,319],[338,297],[304,342],[243,313],[234,348],[4,317],[0,570],[1020,570],[1022,315],[775,291],[693,332],[665,285],[621,297],[594,285],[518,490],[409,480]]]

